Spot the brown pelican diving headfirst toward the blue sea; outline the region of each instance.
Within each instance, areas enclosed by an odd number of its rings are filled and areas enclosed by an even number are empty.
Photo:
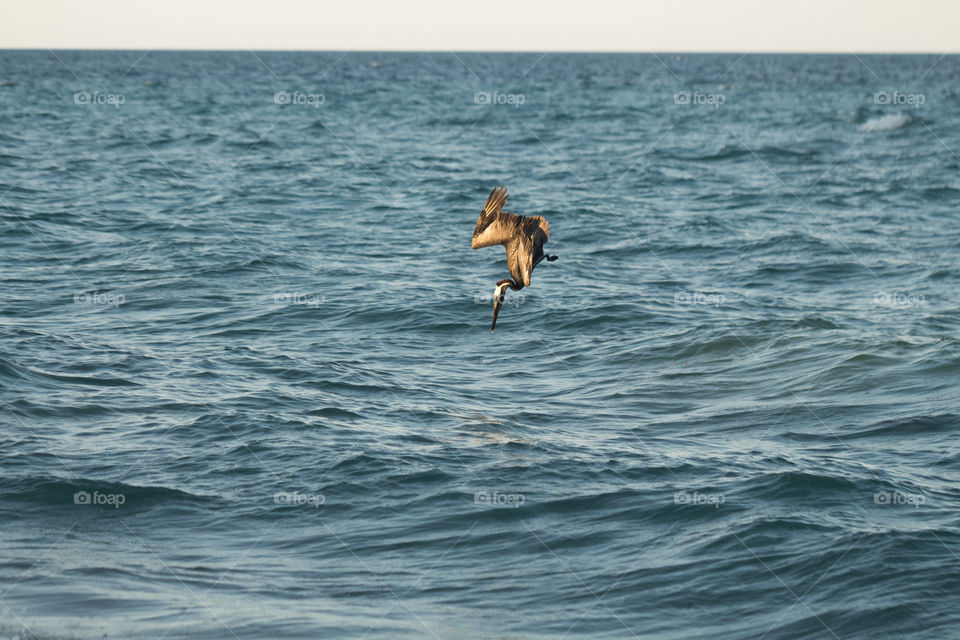
[[[530,274],[533,268],[544,258],[553,262],[557,256],[543,253],[543,245],[550,237],[550,225],[543,216],[521,216],[503,210],[507,203],[507,190],[499,187],[490,192],[483,211],[473,228],[471,249],[492,247],[502,244],[507,250],[507,269],[513,279],[507,278],[497,283],[493,291],[493,322],[490,333],[497,326],[497,316],[503,306],[503,297],[508,288],[519,291],[530,286]]]

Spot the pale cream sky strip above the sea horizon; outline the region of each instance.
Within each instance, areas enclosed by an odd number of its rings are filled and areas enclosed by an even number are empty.
[[[960,52],[960,0],[0,0],[0,48]]]

